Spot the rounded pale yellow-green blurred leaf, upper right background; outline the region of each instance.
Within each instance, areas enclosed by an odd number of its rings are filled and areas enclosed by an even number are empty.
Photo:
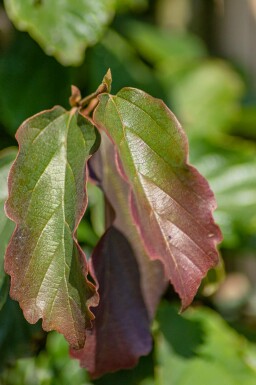
[[[228,131],[239,116],[244,84],[224,61],[207,61],[171,90],[175,111],[190,137]]]

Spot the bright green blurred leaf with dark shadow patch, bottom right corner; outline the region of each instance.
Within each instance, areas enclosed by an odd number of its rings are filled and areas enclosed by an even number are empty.
[[[165,385],[170,380],[172,385],[254,384],[255,345],[232,330],[217,313],[197,308],[178,316],[176,309],[163,303],[157,322],[157,384]],[[189,347],[190,354],[184,354]]]

